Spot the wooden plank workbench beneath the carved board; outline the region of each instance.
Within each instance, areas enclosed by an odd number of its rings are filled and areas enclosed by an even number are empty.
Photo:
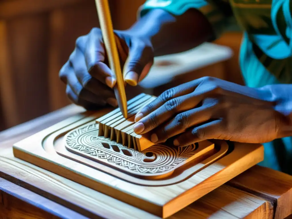
[[[0,133],[0,218],[157,218],[13,157],[13,143],[83,111],[69,105]],[[80,192],[82,198],[93,200],[91,206],[78,199]],[[56,194],[64,197],[58,203]],[[286,218],[291,214],[292,176],[254,166],[170,218]]]

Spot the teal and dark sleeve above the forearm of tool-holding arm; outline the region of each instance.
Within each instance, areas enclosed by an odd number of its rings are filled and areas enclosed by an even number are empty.
[[[173,15],[182,15],[190,8],[198,9],[212,25],[214,39],[218,38],[234,19],[231,7],[225,0],[147,0],[138,10],[138,18],[154,8],[163,9]]]

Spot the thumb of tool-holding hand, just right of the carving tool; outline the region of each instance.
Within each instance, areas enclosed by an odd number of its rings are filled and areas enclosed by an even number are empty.
[[[132,44],[124,64],[123,76],[127,84],[136,86],[145,78],[153,65],[153,49],[144,42]]]

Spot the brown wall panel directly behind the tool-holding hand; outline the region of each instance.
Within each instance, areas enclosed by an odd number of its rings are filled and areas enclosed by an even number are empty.
[[[74,50],[76,39],[97,26],[94,1],[54,10],[50,14],[48,84],[51,111],[70,103],[65,94],[65,84],[59,79],[59,70]]]

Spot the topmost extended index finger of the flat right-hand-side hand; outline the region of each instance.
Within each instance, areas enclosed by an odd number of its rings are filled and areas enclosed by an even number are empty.
[[[187,95],[189,93],[192,93],[193,91],[194,87],[192,86],[192,81],[164,91],[155,100],[147,104],[136,114],[135,122],[138,122],[143,117],[158,109],[167,101],[179,96]]]

